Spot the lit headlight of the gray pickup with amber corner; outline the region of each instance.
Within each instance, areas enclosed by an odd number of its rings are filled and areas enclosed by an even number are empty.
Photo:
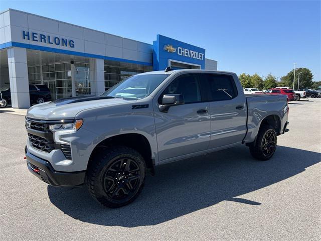
[[[69,144],[68,142],[63,141],[63,135],[65,134],[70,134],[78,131],[83,124],[82,119],[76,119],[75,122],[73,123],[59,123],[59,124],[54,124],[50,125],[49,129],[53,132],[54,134],[54,141],[56,143],[64,143],[64,144]]]

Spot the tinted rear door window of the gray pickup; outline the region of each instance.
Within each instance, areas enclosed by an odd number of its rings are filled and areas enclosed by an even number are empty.
[[[233,78],[230,75],[207,74],[210,87],[210,100],[228,100],[237,96]]]

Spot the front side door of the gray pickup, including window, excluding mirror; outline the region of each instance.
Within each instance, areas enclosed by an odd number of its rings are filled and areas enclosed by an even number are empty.
[[[153,99],[158,159],[175,158],[208,148],[210,141],[209,103],[197,74],[183,74],[172,80]],[[168,112],[159,110],[164,94],[183,94],[185,103]]]

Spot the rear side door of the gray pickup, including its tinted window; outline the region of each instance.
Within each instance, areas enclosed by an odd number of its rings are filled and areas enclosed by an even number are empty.
[[[247,106],[242,86],[229,74],[202,74],[207,80],[211,115],[209,149],[238,144],[246,134]],[[206,82],[206,81],[203,81]]]

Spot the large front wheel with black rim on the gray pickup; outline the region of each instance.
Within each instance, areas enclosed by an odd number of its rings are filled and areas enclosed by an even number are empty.
[[[91,196],[106,207],[129,204],[141,192],[146,174],[143,157],[134,149],[118,146],[95,155],[87,172]]]

